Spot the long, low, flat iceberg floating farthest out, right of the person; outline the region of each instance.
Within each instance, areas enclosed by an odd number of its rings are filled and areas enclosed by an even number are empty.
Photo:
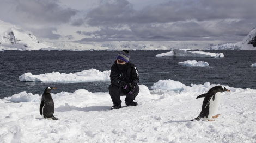
[[[174,49],[166,53],[157,54],[156,57],[173,56],[173,57],[224,57],[223,53],[211,53],[204,51],[187,51]]]

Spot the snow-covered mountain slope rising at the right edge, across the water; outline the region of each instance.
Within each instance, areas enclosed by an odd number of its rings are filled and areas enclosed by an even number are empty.
[[[228,43],[208,47],[210,50],[256,50],[256,28],[238,43]]]

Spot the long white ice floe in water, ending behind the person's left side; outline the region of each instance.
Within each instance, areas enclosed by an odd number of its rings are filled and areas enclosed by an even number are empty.
[[[19,76],[20,81],[40,81],[40,82],[90,82],[90,81],[108,81],[110,70],[100,72],[96,69],[83,70],[77,73],[59,73],[52,72],[46,74],[33,75],[32,73],[25,73]]]

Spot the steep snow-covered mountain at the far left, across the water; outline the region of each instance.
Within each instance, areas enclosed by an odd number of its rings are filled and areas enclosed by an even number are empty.
[[[0,49],[40,50],[54,49],[54,47],[40,43],[31,32],[21,30],[15,27],[15,25],[0,21]]]

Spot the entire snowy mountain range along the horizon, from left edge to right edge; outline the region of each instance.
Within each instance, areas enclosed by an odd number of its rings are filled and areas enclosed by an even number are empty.
[[[51,44],[51,43],[49,43]],[[256,50],[256,28],[238,43],[205,46],[200,41],[196,44],[184,42],[102,42],[82,44],[77,42],[56,42],[54,46],[39,42],[28,31],[19,29],[0,20],[0,50],[172,50],[172,49],[208,49],[208,50]],[[56,48],[57,47],[57,48]]]

